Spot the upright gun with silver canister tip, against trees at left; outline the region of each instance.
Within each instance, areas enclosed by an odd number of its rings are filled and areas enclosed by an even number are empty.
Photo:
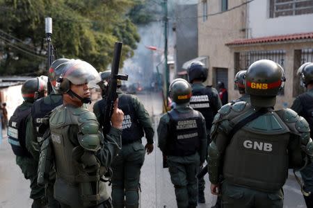
[[[52,35],[52,18],[51,17],[46,17],[45,18],[45,31],[46,31],[46,38],[45,40],[47,41],[47,68],[49,71],[50,65],[52,62],[54,62],[54,46],[51,44],[51,35]],[[48,76],[48,83],[47,83],[47,88],[48,88],[48,94],[51,93],[52,87],[50,83],[50,79]]]

